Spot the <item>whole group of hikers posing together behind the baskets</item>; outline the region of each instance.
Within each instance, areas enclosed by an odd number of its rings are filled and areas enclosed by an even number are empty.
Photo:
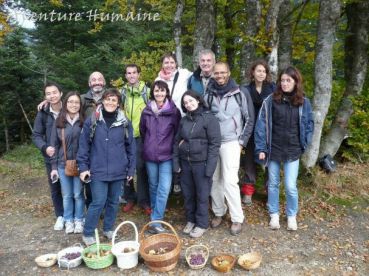
[[[121,200],[126,201],[123,211],[137,202],[152,221],[163,220],[172,183],[179,176],[186,216],[183,233],[201,237],[209,224],[221,225],[229,209],[230,233],[237,235],[245,219],[242,202],[252,204],[260,163],[267,168],[270,227],[280,228],[283,165],[287,228],[297,230],[299,159],[314,128],[300,72],[289,66],[275,84],[267,63],[257,60],[250,68],[250,83],[239,86],[228,64],[216,62],[211,50],[199,53],[193,73],[178,68],[174,54],[165,54],[161,62],[151,87],[140,80],[136,64],[126,66],[127,82],[120,92],[106,89],[100,72],[90,75],[86,94],[72,91],[63,101],[57,84],[45,85],[33,140],[45,157],[57,217],[54,229],[83,233],[84,243],[90,245],[103,214],[103,234],[111,239]],[[240,187],[243,149],[245,177]],[[66,174],[67,160],[76,160],[78,175]],[[166,230],[155,223],[149,231]]]

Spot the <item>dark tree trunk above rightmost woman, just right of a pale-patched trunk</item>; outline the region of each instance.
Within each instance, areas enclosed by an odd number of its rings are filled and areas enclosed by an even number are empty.
[[[291,64],[292,58],[292,4],[284,0],[278,15],[279,45],[278,68],[286,68]]]

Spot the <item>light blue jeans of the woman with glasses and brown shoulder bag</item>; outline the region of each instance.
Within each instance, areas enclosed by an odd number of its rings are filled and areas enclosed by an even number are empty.
[[[66,176],[64,168],[58,168],[63,195],[64,220],[82,220],[85,211],[85,196],[78,176]]]

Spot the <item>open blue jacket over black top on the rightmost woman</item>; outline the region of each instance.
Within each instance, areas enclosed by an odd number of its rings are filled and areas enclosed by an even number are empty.
[[[272,103],[273,94],[269,95],[261,106],[256,126],[255,126],[255,161],[269,164],[270,154],[272,150]],[[311,104],[308,98],[304,97],[304,103],[299,107],[299,122],[300,122],[300,145],[302,152],[311,143],[314,131],[314,120]],[[259,160],[259,153],[266,154],[265,160]]]

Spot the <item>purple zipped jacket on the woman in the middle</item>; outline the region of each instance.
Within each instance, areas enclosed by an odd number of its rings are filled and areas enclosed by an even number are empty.
[[[174,137],[181,113],[172,100],[159,114],[155,114],[149,101],[141,115],[140,133],[143,141],[143,159],[163,162],[172,159]],[[153,102],[155,104],[155,102]]]

